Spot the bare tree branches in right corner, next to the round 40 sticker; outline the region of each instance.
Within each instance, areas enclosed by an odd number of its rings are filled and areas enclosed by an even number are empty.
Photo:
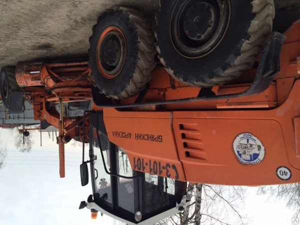
[[[300,183],[260,186],[257,193],[267,194],[269,200],[285,201],[286,206],[294,210],[295,218],[300,215]]]

